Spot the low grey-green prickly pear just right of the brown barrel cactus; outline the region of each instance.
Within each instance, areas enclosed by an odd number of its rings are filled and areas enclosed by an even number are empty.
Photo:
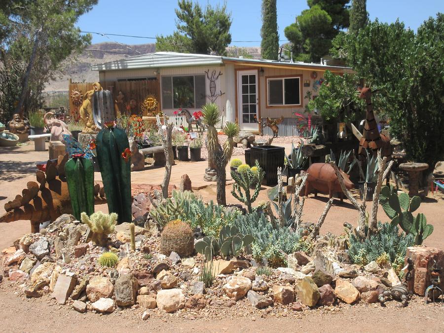
[[[211,260],[213,257],[222,255],[222,258],[237,257],[242,249],[249,252],[249,246],[254,241],[252,235],[243,235],[235,226],[225,225],[219,233],[219,239],[204,237],[197,241],[194,249]]]

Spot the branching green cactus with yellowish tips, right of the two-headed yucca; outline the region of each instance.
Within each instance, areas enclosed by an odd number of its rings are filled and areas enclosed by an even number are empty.
[[[237,171],[231,171],[231,178],[233,178],[235,182],[231,194],[247,206],[249,213],[253,213],[251,205],[258,198],[264,172],[262,168],[259,167],[258,161],[256,161],[256,165],[252,168],[242,168],[244,165],[247,166],[246,164],[241,164],[238,166]],[[250,193],[252,186],[254,186],[253,195]]]

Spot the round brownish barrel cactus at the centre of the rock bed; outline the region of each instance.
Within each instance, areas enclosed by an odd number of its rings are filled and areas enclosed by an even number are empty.
[[[160,235],[160,252],[169,256],[172,251],[181,257],[194,250],[194,234],[188,223],[175,220],[167,223]]]

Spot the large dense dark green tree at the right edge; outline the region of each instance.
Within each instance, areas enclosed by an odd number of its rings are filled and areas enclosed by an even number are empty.
[[[433,170],[444,157],[444,14],[430,17],[415,34],[397,21],[370,22],[344,34],[336,55],[371,84],[375,111],[387,115],[390,133],[407,157]]]

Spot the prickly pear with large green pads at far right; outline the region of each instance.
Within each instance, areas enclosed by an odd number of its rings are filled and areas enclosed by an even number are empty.
[[[399,224],[406,234],[415,236],[415,245],[421,245],[433,232],[433,225],[427,224],[424,214],[418,214],[416,217],[411,214],[421,204],[418,196],[410,198],[407,193],[398,194],[393,186],[384,186],[381,188],[379,202],[385,214],[392,219],[393,225]]]

